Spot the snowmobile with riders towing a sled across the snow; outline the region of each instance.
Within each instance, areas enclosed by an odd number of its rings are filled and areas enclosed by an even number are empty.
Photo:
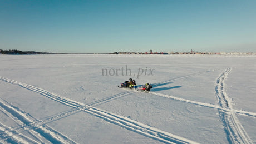
[[[132,80],[132,78],[129,79],[129,81],[125,81],[124,83],[121,83],[121,87],[120,88],[137,88],[136,86],[136,81]],[[152,85],[149,83],[146,83],[145,85],[142,85],[141,87],[137,88],[137,90],[144,90],[144,91],[150,91],[150,89],[152,88]]]

